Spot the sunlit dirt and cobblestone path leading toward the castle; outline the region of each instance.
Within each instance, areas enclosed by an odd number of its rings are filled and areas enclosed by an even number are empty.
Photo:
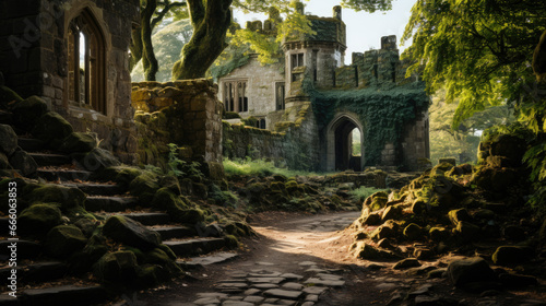
[[[347,252],[351,236],[340,232],[358,215],[254,215],[251,225],[259,237],[247,239],[237,259],[192,271],[189,278],[126,296],[128,302],[115,305],[361,306],[388,305],[391,299],[402,302],[412,295],[415,305],[543,305],[524,303],[529,296],[518,292],[479,296],[454,290],[443,278],[426,279],[427,271],[446,267],[453,258],[404,271],[392,270],[393,262],[358,261]],[[544,286],[536,290],[531,297],[544,296]],[[418,296],[425,304],[417,304]],[[448,304],[426,304],[435,298]]]

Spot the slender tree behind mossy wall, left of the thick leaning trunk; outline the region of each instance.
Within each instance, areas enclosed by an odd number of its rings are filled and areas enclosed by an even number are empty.
[[[141,26],[133,28],[130,46],[131,56],[129,69],[142,60],[144,67],[144,78],[146,81],[155,81],[155,74],[158,70],[157,59],[152,44],[152,32],[165,16],[183,15],[180,11],[186,7],[186,2],[171,2],[170,0],[141,0],[140,1],[140,23]]]

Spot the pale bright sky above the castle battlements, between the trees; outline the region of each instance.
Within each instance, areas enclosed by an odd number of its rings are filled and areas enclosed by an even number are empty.
[[[306,4],[306,13],[318,16],[332,16],[332,8],[340,3],[339,0],[310,0],[302,1]],[[415,0],[393,0],[392,10],[388,12],[376,12],[373,14],[344,8],[342,19],[347,26],[347,50],[345,51],[345,63],[351,63],[353,52],[364,52],[369,49],[379,49],[381,47],[381,37],[396,35],[399,49],[402,52],[411,45],[407,42],[405,46],[400,45],[400,38],[404,33],[405,25],[410,20],[410,11]],[[245,26],[246,21],[265,20],[265,15],[248,14],[245,15],[235,11],[235,19]]]

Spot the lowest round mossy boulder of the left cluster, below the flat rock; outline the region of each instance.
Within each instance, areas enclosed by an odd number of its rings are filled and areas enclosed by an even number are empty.
[[[47,233],[44,244],[46,251],[58,258],[67,258],[82,249],[87,238],[74,225],[59,225]]]

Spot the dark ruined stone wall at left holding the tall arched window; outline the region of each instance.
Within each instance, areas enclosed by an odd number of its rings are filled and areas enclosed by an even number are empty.
[[[136,162],[127,50],[138,9],[136,0],[0,1],[0,71],[5,85],[24,97],[44,98],[76,131],[96,132],[100,146],[124,163]],[[104,36],[103,111],[69,101],[68,28],[83,11],[93,15]]]

